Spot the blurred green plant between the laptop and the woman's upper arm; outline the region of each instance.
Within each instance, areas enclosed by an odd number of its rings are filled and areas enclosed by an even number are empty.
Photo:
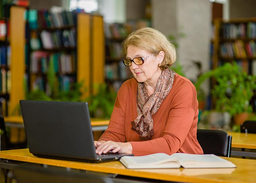
[[[89,104],[91,117],[109,119],[114,108],[117,93],[106,84],[95,85],[97,93],[91,94],[85,100]]]

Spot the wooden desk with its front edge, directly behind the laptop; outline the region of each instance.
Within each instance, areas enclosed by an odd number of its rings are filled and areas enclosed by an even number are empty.
[[[6,116],[4,117],[6,126],[24,128],[22,116]],[[109,120],[91,118],[91,126],[93,131],[105,131],[108,128]]]

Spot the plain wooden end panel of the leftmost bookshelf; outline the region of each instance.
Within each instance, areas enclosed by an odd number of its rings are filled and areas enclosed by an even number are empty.
[[[10,46],[11,46],[11,91],[8,115],[19,112],[19,100],[25,98],[25,11],[26,8],[12,6],[10,9]]]

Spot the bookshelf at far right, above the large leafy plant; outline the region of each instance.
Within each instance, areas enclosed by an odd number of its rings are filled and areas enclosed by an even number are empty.
[[[215,19],[213,26],[212,69],[235,61],[246,73],[256,75],[256,18]],[[256,112],[255,96],[250,103]]]

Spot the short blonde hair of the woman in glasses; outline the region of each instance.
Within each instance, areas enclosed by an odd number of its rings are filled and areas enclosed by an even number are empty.
[[[122,51],[125,57],[128,46],[136,46],[153,54],[158,54],[160,51],[165,52],[163,61],[159,65],[161,70],[171,67],[176,61],[176,48],[174,44],[162,32],[152,27],[143,27],[133,31],[123,41],[122,45]]]

